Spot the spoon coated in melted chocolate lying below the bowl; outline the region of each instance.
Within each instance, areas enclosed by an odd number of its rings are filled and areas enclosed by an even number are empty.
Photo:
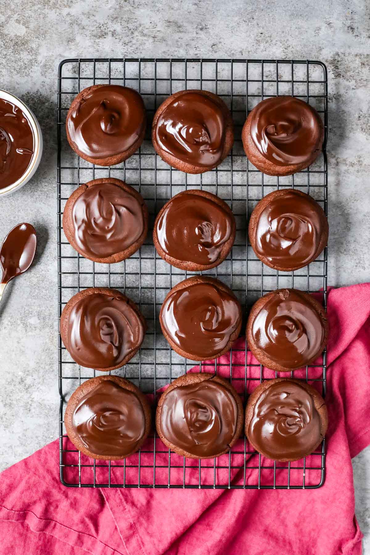
[[[37,235],[31,224],[18,224],[9,231],[0,247],[0,265],[3,277],[0,283],[0,301],[6,285],[31,266],[36,253]]]

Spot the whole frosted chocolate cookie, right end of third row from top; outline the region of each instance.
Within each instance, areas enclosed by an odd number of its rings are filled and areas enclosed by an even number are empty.
[[[256,359],[267,368],[290,372],[312,364],[325,348],[326,312],[311,295],[277,289],[252,306],[246,337]]]

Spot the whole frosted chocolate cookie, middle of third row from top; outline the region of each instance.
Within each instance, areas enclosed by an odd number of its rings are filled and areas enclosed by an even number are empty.
[[[221,281],[193,276],[175,285],[159,314],[163,335],[190,360],[212,360],[231,349],[241,329],[239,301]]]

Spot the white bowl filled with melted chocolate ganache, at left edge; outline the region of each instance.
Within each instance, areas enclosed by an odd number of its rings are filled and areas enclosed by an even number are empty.
[[[43,150],[40,125],[19,98],[0,90],[0,197],[26,185]]]

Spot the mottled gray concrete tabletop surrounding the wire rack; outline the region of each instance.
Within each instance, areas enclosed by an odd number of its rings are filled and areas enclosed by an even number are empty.
[[[57,437],[57,66],[68,57],[318,59],[329,73],[328,283],[370,279],[370,12],[366,0],[5,0],[0,88],[30,105],[44,133],[37,175],[0,202],[0,238],[38,230],[32,271],[0,305],[0,469]],[[353,461],[356,512],[370,553],[367,449]]]

